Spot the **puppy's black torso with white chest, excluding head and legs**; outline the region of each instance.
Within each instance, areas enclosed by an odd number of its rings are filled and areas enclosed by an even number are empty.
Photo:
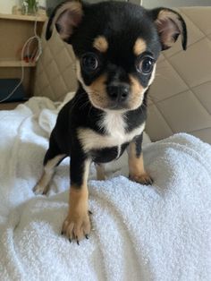
[[[109,161],[119,158],[119,147],[126,148],[134,137],[143,132],[146,117],[144,103],[127,113],[104,112],[92,106],[88,94],[80,88],[60,111],[52,138],[57,143],[58,151],[67,156],[75,145],[81,144],[86,157],[105,163],[108,162],[105,158],[100,161],[96,159],[100,158],[101,150],[109,149],[112,154],[115,151],[114,156],[107,154]]]

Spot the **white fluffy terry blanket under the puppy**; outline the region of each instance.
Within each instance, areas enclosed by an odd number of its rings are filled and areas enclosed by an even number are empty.
[[[32,192],[59,107],[31,98],[0,112],[0,280],[210,281],[211,147],[187,134],[148,144],[151,187],[124,176],[125,156],[109,165],[89,181],[93,230],[78,246],[60,234],[68,159],[47,196]]]

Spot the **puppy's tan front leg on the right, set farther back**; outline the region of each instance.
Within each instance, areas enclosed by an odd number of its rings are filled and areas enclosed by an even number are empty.
[[[143,153],[141,150],[143,134],[131,141],[128,147],[129,177],[132,181],[142,184],[152,184],[153,180],[145,171]]]

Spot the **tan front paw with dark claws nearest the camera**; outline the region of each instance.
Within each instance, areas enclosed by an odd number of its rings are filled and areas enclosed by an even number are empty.
[[[75,212],[70,210],[68,216],[63,222],[62,234],[65,234],[70,242],[72,239],[76,239],[79,244],[80,240],[85,236],[89,238],[91,230],[91,223],[89,218],[89,211],[87,212]]]

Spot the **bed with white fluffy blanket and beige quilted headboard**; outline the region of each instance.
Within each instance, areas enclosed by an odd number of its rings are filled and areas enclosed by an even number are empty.
[[[46,196],[32,192],[56,115],[76,88],[72,48],[56,34],[43,39],[36,97],[0,112],[1,280],[211,279],[211,8],[180,12],[188,51],[178,44],[162,55],[150,89],[144,157],[155,182],[132,183],[126,154],[106,166],[105,181],[91,166],[93,229],[80,246],[61,236],[69,159]]]

